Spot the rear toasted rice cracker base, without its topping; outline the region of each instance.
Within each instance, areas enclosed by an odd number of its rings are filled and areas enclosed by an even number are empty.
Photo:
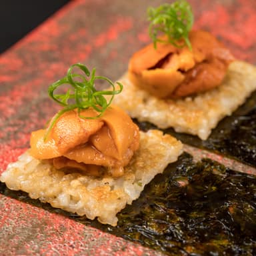
[[[161,129],[173,127],[179,133],[207,139],[211,129],[256,89],[256,67],[243,61],[229,65],[222,85],[195,97],[178,100],[158,99],[135,87],[127,74],[119,79],[123,92],[113,99],[115,105],[139,121],[148,121]]]

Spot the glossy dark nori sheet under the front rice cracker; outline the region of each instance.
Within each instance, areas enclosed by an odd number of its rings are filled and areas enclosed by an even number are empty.
[[[118,214],[117,227],[54,209],[11,191],[0,193],[167,255],[256,255],[256,176],[183,153]]]

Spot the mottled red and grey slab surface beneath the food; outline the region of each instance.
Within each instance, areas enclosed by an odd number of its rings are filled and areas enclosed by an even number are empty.
[[[211,31],[235,57],[256,63],[256,1],[189,1],[195,28]],[[152,6],[165,3],[150,1]],[[0,55],[0,173],[29,147],[31,131],[57,108],[47,87],[73,63],[116,80],[149,43],[149,1],[75,0]],[[63,215],[0,193],[0,255],[160,255]]]

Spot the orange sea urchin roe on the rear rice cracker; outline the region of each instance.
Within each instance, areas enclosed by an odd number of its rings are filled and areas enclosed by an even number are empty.
[[[153,43],[137,51],[129,62],[129,78],[159,98],[177,98],[213,89],[223,81],[229,50],[206,31],[189,33],[192,51],[171,43]]]

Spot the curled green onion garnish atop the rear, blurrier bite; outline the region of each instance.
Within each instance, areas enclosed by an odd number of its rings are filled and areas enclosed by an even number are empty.
[[[157,42],[168,42],[175,47],[183,47],[187,45],[191,49],[189,42],[189,30],[193,26],[193,12],[191,5],[185,0],[178,0],[174,3],[165,3],[157,8],[149,7],[147,9],[149,21],[149,36],[153,40],[154,47]],[[158,38],[158,34],[167,35],[167,41]],[[184,43],[181,44],[180,40]]]

